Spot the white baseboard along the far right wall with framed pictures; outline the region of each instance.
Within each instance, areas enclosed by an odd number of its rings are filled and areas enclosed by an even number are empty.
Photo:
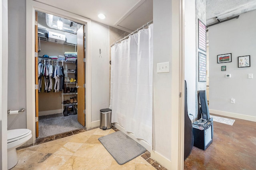
[[[242,115],[242,114],[238,114],[238,113],[232,113],[232,112],[220,111],[220,110],[214,110],[214,109],[209,109],[209,111],[210,111],[210,113],[213,113],[213,114],[216,114],[216,115],[234,117],[234,118],[237,118],[237,119],[243,119],[243,120],[255,121],[256,122],[256,117],[255,116]]]

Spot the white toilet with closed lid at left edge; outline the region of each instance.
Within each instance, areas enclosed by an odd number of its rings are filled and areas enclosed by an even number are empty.
[[[26,143],[32,137],[29,129],[13,129],[7,131],[8,169],[18,163],[16,148]]]

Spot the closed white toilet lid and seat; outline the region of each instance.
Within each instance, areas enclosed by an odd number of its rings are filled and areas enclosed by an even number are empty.
[[[7,131],[7,143],[17,141],[31,134],[29,129],[13,129]]]

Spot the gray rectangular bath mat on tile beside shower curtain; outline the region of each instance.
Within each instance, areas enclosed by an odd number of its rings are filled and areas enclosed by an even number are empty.
[[[110,133],[98,140],[120,165],[129,162],[146,151],[142,145],[121,131]]]

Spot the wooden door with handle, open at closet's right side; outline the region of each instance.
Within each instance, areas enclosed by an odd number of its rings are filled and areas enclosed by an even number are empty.
[[[84,25],[77,31],[77,109],[78,122],[85,126],[85,47],[84,47]]]

